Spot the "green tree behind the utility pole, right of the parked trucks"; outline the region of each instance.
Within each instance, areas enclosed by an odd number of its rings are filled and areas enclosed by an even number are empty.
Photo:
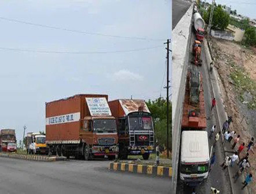
[[[160,146],[167,146],[166,125],[167,125],[167,101],[163,98],[158,98],[154,101],[146,102],[153,118],[155,137]],[[172,103],[169,102],[169,148],[172,147]]]

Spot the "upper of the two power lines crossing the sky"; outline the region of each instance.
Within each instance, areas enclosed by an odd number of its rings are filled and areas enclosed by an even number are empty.
[[[124,38],[124,39],[135,39],[135,40],[153,40],[153,41],[163,41],[164,40],[164,39],[155,39],[155,38],[118,36],[118,35],[109,35],[109,34],[96,33],[96,32],[81,31],[81,30],[72,30],[72,29],[68,29],[68,28],[48,26],[48,25],[44,25],[44,24],[37,24],[37,23],[27,22],[27,21],[23,21],[23,20],[10,19],[10,18],[1,17],[1,16],[0,16],[0,19],[6,20],[6,21],[12,21],[12,22],[16,22],[16,23],[22,23],[22,24],[26,24],[26,25],[31,25],[31,26],[38,26],[38,27],[49,28],[49,29],[54,29],[54,30],[64,30],[64,31],[68,31],[68,32],[81,33],[81,34],[87,34],[87,35],[97,35],[97,36],[104,36],[104,37],[111,37],[111,38]]]

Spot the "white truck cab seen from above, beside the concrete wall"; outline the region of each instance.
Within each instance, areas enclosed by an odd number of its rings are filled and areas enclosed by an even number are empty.
[[[195,186],[205,181],[208,177],[210,156],[206,131],[183,131],[179,164],[181,182]]]

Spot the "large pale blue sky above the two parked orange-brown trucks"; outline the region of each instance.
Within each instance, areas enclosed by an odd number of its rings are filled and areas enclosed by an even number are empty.
[[[26,133],[45,131],[45,102],[79,93],[108,94],[110,100],[166,97],[171,10],[171,0],[0,1],[1,129],[15,129],[17,140],[24,125]]]

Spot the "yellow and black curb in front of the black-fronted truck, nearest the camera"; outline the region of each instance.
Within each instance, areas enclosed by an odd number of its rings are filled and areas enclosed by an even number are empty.
[[[109,170],[120,171],[120,172],[130,172],[130,173],[137,173],[137,174],[147,174],[147,175],[161,176],[161,177],[172,176],[172,167],[165,167],[165,166],[111,162],[109,164]]]

